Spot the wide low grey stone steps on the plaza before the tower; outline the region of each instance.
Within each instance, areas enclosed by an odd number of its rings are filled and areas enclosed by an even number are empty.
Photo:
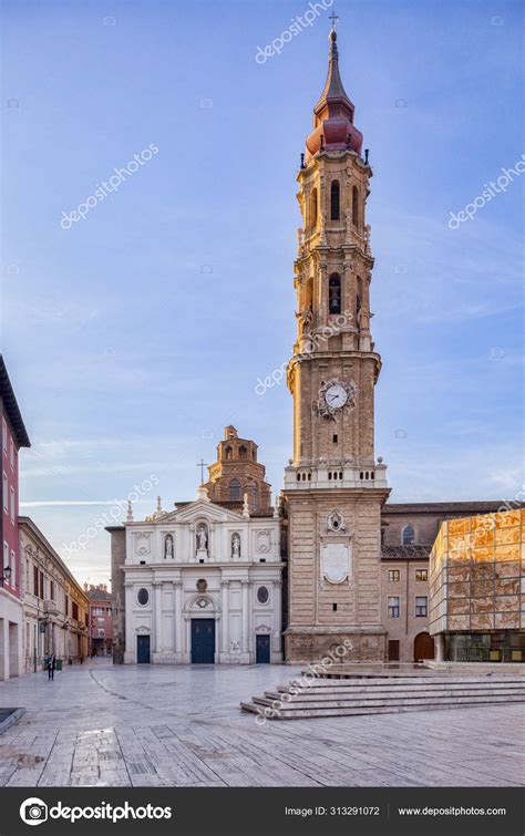
[[[268,720],[388,714],[404,711],[435,711],[473,705],[525,703],[523,674],[371,675],[316,679],[303,688],[294,680],[264,696],[241,702]]]

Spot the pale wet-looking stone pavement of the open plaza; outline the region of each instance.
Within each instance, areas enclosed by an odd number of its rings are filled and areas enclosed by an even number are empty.
[[[525,784],[525,705],[265,725],[239,710],[298,671],[100,659],[2,682],[0,705],[27,713],[0,735],[0,785]]]

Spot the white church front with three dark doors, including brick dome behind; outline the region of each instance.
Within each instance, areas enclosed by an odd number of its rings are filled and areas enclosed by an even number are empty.
[[[222,445],[218,455],[223,465]],[[235,476],[209,466],[216,495],[231,478],[246,484],[255,458],[241,461],[246,471]],[[116,662],[282,661],[280,523],[260,487],[258,512],[247,492],[238,512],[228,507],[236,498],[210,502],[202,485],[195,502],[166,512],[158,500],[151,517],[135,520],[130,510],[124,526],[109,529]]]

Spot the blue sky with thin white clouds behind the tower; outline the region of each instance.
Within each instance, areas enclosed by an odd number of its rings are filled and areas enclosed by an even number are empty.
[[[227,424],[282,486],[291,396],[282,379],[257,391],[295,339],[296,176],[327,73],[325,6],[3,3],[0,321],[32,443],[21,513],[82,581],[110,577],[117,500],[137,494],[143,518],[157,494],[165,509],[192,499]],[[391,500],[512,500],[521,3],[360,0],[337,13],[373,168],[375,450]],[[115,190],[72,221],[112,175]]]

